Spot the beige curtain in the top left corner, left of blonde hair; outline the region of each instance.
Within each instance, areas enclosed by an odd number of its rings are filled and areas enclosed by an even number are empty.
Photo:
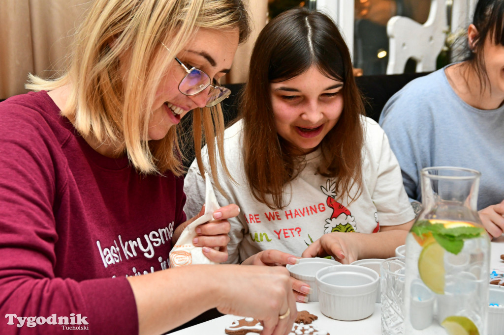
[[[28,73],[62,69],[88,0],[0,1],[0,99],[25,93]]]

